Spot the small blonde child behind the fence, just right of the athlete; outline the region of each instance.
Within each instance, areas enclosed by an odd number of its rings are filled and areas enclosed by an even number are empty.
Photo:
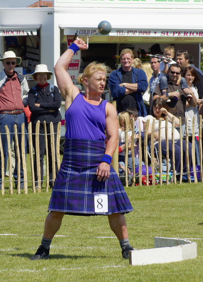
[[[118,115],[119,118],[119,145],[122,145],[122,143],[125,142],[125,131],[124,131],[124,119],[126,118],[128,126],[128,148],[131,148],[130,144],[130,138],[132,135],[132,126],[130,123],[130,116],[128,112],[120,112]],[[135,131],[137,132],[137,131]],[[139,138],[139,134],[136,133],[134,136],[135,139]],[[122,152],[119,153],[119,162],[125,162],[125,151],[123,149]],[[139,159],[135,158],[135,167],[139,165]],[[132,165],[132,153],[131,150],[128,151],[128,168],[130,170],[130,173],[133,174],[133,165]]]

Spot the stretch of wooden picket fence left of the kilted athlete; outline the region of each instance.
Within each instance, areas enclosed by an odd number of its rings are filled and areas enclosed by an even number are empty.
[[[39,158],[39,121],[36,123],[36,159],[37,159],[37,175],[38,175],[38,192],[41,192],[41,172],[40,172],[40,158]],[[12,157],[11,157],[11,146],[10,146],[10,132],[8,126],[5,126],[6,134],[7,134],[7,141],[8,141],[8,171],[9,171],[9,192],[13,194],[13,176],[12,176]],[[57,165],[58,169],[60,167],[60,131],[61,131],[61,122],[58,123],[57,129]],[[17,191],[20,194],[20,151],[18,146],[18,135],[17,133],[17,126],[14,125],[14,138],[16,143],[16,154],[18,160],[18,180],[17,180]],[[50,134],[51,134],[51,151],[52,151],[52,170],[53,170],[53,180],[56,177],[55,173],[55,148],[54,148],[54,132],[53,132],[53,123],[50,123]],[[46,131],[46,122],[44,122],[44,135],[45,135],[45,151],[46,155],[48,156],[48,141],[47,141],[47,131]],[[32,188],[33,193],[35,193],[35,180],[34,180],[34,165],[33,165],[33,140],[32,140],[32,123],[28,124],[28,142],[29,142],[29,155],[30,155],[30,170],[31,170],[31,180],[28,180],[27,177],[27,165],[26,165],[26,155],[25,155],[25,129],[24,123],[22,124],[22,162],[23,162],[23,173],[24,173],[24,193],[28,193],[28,181],[32,181]],[[1,151],[1,162],[2,162],[2,195],[5,192],[5,177],[4,177],[4,156],[3,156],[3,145],[0,138],[0,151]],[[46,158],[46,191],[48,191],[49,186],[49,169],[48,169],[48,157]]]

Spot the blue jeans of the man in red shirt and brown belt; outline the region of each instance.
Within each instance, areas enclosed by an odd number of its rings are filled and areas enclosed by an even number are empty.
[[[1,132],[1,140],[3,146],[3,156],[4,156],[4,176],[6,175],[6,168],[7,168],[7,161],[8,161],[8,142],[6,136],[5,125],[8,126],[10,132],[10,143],[14,141],[14,151],[15,151],[15,168],[13,172],[14,180],[17,180],[17,155],[16,155],[16,144],[15,144],[15,137],[14,137],[14,124],[17,126],[17,133],[18,133],[18,146],[20,151],[20,180],[24,180],[23,175],[23,162],[22,162],[22,124],[25,124],[25,155],[27,154],[27,144],[28,144],[28,119],[25,116],[24,112],[18,115],[11,115],[11,114],[0,114],[0,132]],[[0,158],[0,165],[1,165],[1,158]],[[2,181],[2,170],[0,169],[0,183]]]

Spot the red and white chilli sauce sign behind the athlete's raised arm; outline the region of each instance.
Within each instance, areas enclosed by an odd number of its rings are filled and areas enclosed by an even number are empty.
[[[67,35],[66,38],[67,38],[67,46],[69,48],[70,45],[73,43],[74,35]],[[80,61],[81,61],[81,52],[79,50],[73,56],[72,60],[70,61],[68,70],[67,70],[74,84],[79,74]]]

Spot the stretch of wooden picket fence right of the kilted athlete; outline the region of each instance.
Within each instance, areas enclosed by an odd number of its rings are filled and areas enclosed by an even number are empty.
[[[145,138],[144,138],[144,151],[142,149],[141,145],[141,130],[140,130],[140,123],[139,123],[139,185],[142,185],[142,156],[144,154],[145,159],[145,166],[146,166],[146,185],[149,185],[149,172],[148,172],[148,165],[151,166],[152,170],[152,185],[155,185],[155,154],[154,150],[151,149],[150,153],[150,159],[151,164],[148,164],[148,128],[149,128],[149,122],[148,119],[145,124]],[[131,135],[131,152],[134,152],[134,120],[131,120],[132,123],[132,135]],[[180,118],[180,124],[181,124],[181,118]],[[186,118],[185,123],[185,130],[186,130],[186,136],[185,136],[185,155],[186,155],[186,168],[187,168],[187,178],[188,182],[191,183],[190,178],[190,166],[189,166],[189,156],[188,156],[188,118]],[[192,133],[192,165],[193,165],[193,171],[194,171],[194,182],[197,183],[197,174],[196,174],[196,168],[195,168],[195,117],[193,117],[193,133]],[[128,130],[129,128],[127,121],[124,120],[124,131],[125,131],[125,164],[128,163]],[[152,123],[152,133],[151,133],[151,148],[154,148],[154,128],[155,128],[155,118]],[[175,142],[174,142],[174,128],[175,128],[175,118],[173,118],[172,121],[172,160],[170,160],[171,165],[173,167],[173,183],[176,184],[176,173],[175,173]],[[180,126],[180,184],[182,183],[182,177],[183,177],[183,143],[182,143],[182,130]],[[166,117],[166,126],[165,126],[165,136],[166,136],[166,185],[169,184],[169,135],[168,135],[168,117]],[[199,150],[200,150],[200,164],[202,164],[202,116],[199,117]],[[161,152],[161,119],[159,119],[159,149],[158,149],[158,160],[159,160],[159,183],[163,184],[162,179],[162,154],[159,154]],[[132,186],[135,185],[135,166],[134,166],[134,154],[132,153],[132,164],[133,164],[133,183]],[[118,149],[114,153],[113,156],[113,167],[116,170],[118,174]],[[200,165],[200,170],[198,171],[200,173],[200,181],[203,183],[203,174],[202,174],[202,165]],[[128,187],[128,168],[127,165],[125,165],[125,185]]]

